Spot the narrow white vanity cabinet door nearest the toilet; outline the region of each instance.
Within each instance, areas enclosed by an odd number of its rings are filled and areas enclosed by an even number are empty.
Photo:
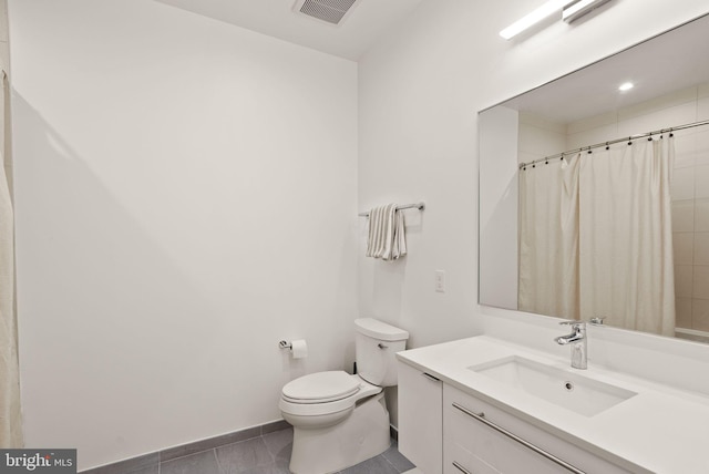
[[[443,468],[443,384],[399,364],[399,452],[424,474]]]

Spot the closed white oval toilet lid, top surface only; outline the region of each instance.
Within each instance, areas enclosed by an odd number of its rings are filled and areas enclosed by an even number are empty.
[[[342,370],[317,372],[286,383],[284,398],[296,403],[323,403],[359,391],[359,379]]]

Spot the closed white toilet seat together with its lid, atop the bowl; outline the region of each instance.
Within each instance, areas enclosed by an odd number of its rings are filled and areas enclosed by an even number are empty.
[[[330,373],[330,375],[323,375],[328,373]],[[288,382],[286,387],[284,387],[280,401],[278,402],[281,412],[300,416],[329,415],[353,410],[357,401],[382,391],[381,387],[372,385],[359,375],[350,375],[345,371],[335,371],[335,373],[337,374],[332,374],[332,372],[317,372]],[[325,383],[328,379],[333,380],[335,384],[327,389],[320,388],[322,391],[319,394],[316,393],[317,389],[292,391],[294,387],[300,389],[301,384],[305,385],[309,383],[310,380]],[[288,388],[288,390],[286,390],[286,388]],[[311,398],[297,399],[289,395],[310,395]]]

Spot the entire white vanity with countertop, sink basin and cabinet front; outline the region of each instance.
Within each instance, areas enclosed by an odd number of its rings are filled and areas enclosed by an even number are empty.
[[[489,336],[397,360],[399,446],[424,474],[709,473],[703,393]]]

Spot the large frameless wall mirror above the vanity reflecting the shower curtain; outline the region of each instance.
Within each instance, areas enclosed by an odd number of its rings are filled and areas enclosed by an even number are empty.
[[[481,305],[709,342],[707,45],[709,16],[480,113]]]

